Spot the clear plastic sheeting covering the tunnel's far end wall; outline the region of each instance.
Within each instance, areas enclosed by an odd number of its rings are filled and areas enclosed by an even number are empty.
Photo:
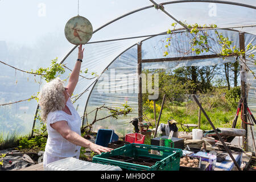
[[[233,41],[232,47],[239,47],[238,32],[228,30],[218,30],[218,32]],[[212,33],[212,37],[216,36],[213,31],[209,31],[208,33]],[[164,47],[164,42],[166,42],[168,36],[169,35],[159,35],[144,40],[142,42],[142,60],[166,58],[163,56],[163,52],[166,50],[166,48]],[[175,34],[175,37],[177,39],[177,43],[179,44],[175,44],[175,41],[172,42],[171,46],[168,49],[169,54],[167,57],[195,56],[195,54],[184,55],[183,53],[181,53],[187,52],[187,49],[189,49],[187,35],[185,35],[184,33],[179,33]],[[245,46],[247,47],[247,45],[253,39],[253,35],[246,34]],[[212,39],[212,42],[210,42],[209,44],[212,45],[212,49],[216,51],[216,53],[220,52],[220,46],[216,46],[216,39]],[[180,51],[179,53],[176,50],[181,50],[180,45],[182,51]],[[133,108],[131,117],[138,116],[137,54],[137,45],[135,45],[134,47],[122,53],[122,55],[119,56],[117,59],[115,59],[113,63],[109,65],[108,69],[98,79],[97,84],[94,86],[92,93],[89,96],[88,104],[86,105],[86,113],[90,113],[87,116],[89,123],[90,121],[93,121],[95,117],[95,109],[97,107],[100,107],[101,105],[109,106],[112,108],[120,107],[126,101],[127,104]],[[207,55],[209,54],[210,53],[208,52]],[[202,53],[201,55],[205,55],[205,53]],[[226,59],[217,57],[212,59],[177,60],[154,63],[142,63],[142,68],[164,68],[167,70],[172,70],[180,67],[189,66],[213,66],[229,62],[233,63],[234,61],[236,61],[235,57],[228,57]],[[253,97],[255,97],[255,95]],[[102,115],[100,115],[100,113]],[[104,118],[107,115],[109,115],[109,111],[102,110],[97,114],[97,118]],[[130,129],[133,129],[133,126],[131,125],[131,123],[129,123],[130,120],[131,119],[129,117],[118,118],[118,120],[113,118],[104,119],[96,123],[96,125],[94,126],[94,130],[97,131],[100,128],[108,128],[117,131],[122,130],[119,132],[122,134],[126,134],[130,131]]]

